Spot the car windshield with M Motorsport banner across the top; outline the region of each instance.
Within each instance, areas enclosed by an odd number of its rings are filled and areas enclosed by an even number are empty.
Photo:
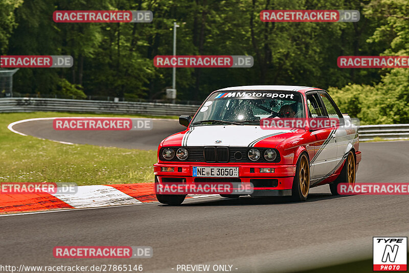
[[[191,126],[258,125],[264,118],[304,118],[298,92],[254,91],[219,92],[203,103]]]

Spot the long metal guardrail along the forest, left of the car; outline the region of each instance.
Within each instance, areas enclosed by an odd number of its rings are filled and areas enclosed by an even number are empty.
[[[199,106],[200,105],[153,102],[113,102],[49,98],[0,98],[0,113],[57,111],[179,116],[194,115]]]

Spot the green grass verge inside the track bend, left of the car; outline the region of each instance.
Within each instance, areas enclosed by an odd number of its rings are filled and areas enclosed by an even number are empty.
[[[78,116],[169,118],[64,112],[0,113],[0,183],[47,181],[83,186],[153,181],[156,151],[66,145],[23,137],[7,129],[18,120]]]

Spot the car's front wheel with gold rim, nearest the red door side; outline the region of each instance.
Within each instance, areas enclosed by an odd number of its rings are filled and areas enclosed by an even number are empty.
[[[301,154],[297,162],[296,176],[292,181],[291,199],[305,201],[310,190],[310,164],[307,155]]]

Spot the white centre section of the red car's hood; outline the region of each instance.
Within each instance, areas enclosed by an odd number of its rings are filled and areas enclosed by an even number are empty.
[[[254,146],[269,135],[286,133],[294,130],[263,130],[260,126],[251,125],[205,125],[194,126],[184,138],[183,146]],[[256,142],[256,140],[258,140]],[[221,141],[221,143],[216,143]]]

